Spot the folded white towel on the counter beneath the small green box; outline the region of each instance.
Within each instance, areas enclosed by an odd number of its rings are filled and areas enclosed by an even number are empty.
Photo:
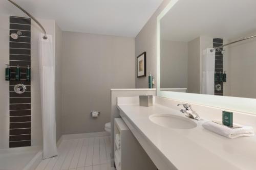
[[[227,126],[216,124],[212,121],[207,121],[203,123],[202,126],[209,131],[215,132],[230,139],[254,135],[253,128],[249,126],[244,126],[242,128],[229,128]]]

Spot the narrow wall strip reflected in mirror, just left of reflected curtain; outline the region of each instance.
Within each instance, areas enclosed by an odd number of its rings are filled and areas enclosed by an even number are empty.
[[[187,92],[200,93],[200,37],[188,42]]]

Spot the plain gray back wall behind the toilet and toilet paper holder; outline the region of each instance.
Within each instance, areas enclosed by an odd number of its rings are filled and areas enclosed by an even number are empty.
[[[63,32],[62,132],[104,131],[111,88],[135,88],[135,39]],[[101,114],[94,119],[90,112]]]

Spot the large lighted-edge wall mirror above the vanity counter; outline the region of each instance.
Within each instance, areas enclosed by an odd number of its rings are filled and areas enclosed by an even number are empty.
[[[256,113],[255,7],[170,1],[157,18],[158,95]]]

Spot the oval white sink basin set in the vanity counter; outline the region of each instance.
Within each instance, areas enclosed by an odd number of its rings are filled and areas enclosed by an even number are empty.
[[[197,127],[197,124],[193,120],[171,114],[153,114],[149,118],[151,122],[167,128],[192,129]]]

